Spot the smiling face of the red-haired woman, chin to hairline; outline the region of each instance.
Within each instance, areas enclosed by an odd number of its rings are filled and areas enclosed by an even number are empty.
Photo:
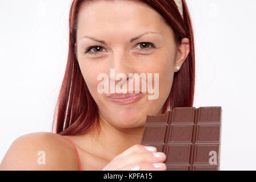
[[[182,62],[177,61],[174,32],[157,11],[139,1],[83,4],[78,15],[76,47],[79,67],[101,118],[119,128],[133,128],[144,125],[146,115],[161,113],[171,90],[175,68],[181,67]],[[110,76],[110,69],[114,69],[114,77],[123,73],[127,80],[115,80]],[[127,93],[137,90],[135,77],[129,73],[145,73],[146,76],[151,73],[152,84],[147,82],[147,86],[153,86],[154,93],[149,93],[147,88],[146,93],[136,94],[128,101],[121,99],[116,91],[111,96],[100,93],[98,85],[103,79],[97,80],[97,77],[102,73],[108,76],[105,81],[109,81],[109,92],[111,82],[122,81],[127,86]],[[159,89],[158,79],[154,79],[156,74],[159,74]],[[139,92],[142,92],[143,81],[146,80],[139,79]],[[133,88],[129,87],[131,82]],[[157,99],[149,99],[154,95],[158,95]]]

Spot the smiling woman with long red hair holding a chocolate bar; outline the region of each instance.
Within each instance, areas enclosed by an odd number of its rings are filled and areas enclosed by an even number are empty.
[[[55,132],[17,138],[0,169],[166,170],[165,154],[140,142],[146,115],[193,106],[194,38],[186,2],[74,0],[69,20]],[[137,89],[130,85],[138,81],[135,73],[148,76],[138,80],[154,93],[142,91],[140,82]],[[126,92],[106,88],[120,83]]]

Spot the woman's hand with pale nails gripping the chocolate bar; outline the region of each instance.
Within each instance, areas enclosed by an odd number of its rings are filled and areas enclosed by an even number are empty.
[[[115,156],[102,171],[165,171],[166,155],[157,148],[135,144]]]

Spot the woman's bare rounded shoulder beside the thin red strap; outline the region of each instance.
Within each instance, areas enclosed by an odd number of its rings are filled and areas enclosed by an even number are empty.
[[[0,170],[79,170],[74,147],[61,135],[30,133],[14,140]]]

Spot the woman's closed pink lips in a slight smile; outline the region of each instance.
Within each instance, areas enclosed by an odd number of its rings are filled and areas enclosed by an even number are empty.
[[[114,93],[107,94],[109,100],[117,102],[118,104],[133,104],[143,97],[143,93]]]

